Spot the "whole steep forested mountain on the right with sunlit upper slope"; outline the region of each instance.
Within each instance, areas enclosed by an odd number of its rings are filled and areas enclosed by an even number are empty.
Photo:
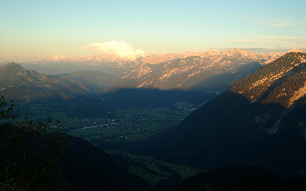
[[[260,165],[301,173],[306,170],[305,71],[306,53],[287,53],[137,149],[203,169]]]

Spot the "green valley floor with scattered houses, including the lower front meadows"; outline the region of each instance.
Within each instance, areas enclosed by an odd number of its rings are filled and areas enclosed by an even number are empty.
[[[64,118],[64,120],[67,124],[67,134],[81,137],[86,141],[93,142],[95,145],[98,145],[100,141],[128,143],[145,140],[161,133],[180,123],[194,110],[181,108],[117,108],[115,114],[119,116],[118,119],[88,118],[69,120],[69,118]],[[97,123],[106,124],[99,126]],[[82,125],[87,127],[80,128]],[[141,156],[118,150],[106,152],[121,158],[130,167],[131,173],[138,174],[152,185],[170,177],[187,178],[203,171],[185,165],[156,160],[154,156]]]

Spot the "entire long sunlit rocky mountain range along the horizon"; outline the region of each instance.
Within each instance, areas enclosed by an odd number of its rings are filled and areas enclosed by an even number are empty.
[[[243,49],[230,49],[222,52],[207,50],[205,52],[167,53],[138,57],[134,61],[125,60],[113,54],[105,54],[55,61],[27,62],[21,63],[21,65],[28,70],[53,75],[80,70],[102,71],[121,78],[119,87],[189,89],[211,75],[236,72],[235,77],[230,75],[225,79],[230,85],[233,81],[260,68],[260,65],[256,68],[252,65],[248,68],[249,72],[246,72],[244,67],[244,72],[240,74],[239,68],[242,65],[254,62],[265,65],[284,54],[259,54]],[[227,87],[222,87],[222,89],[225,90]]]

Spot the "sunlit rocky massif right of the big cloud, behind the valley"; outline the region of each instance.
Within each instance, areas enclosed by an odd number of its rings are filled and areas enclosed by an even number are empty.
[[[241,54],[241,51],[248,54],[245,54],[245,56]],[[185,55],[187,56],[184,57]],[[263,59],[263,57],[258,57],[250,51],[237,49],[222,53],[208,51],[208,53],[188,55],[190,54],[183,53],[178,55],[178,58],[158,64],[142,64],[131,72],[126,72],[122,81],[124,82],[125,79],[137,80],[139,83],[136,87],[189,89],[211,75],[239,73],[241,65],[260,63]],[[254,69],[257,70],[258,68],[260,68],[260,65]],[[250,67],[250,72],[246,75],[254,72],[254,69]]]

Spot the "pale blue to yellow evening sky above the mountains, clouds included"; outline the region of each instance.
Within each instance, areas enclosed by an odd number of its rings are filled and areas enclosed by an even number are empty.
[[[306,1],[0,0],[0,62],[306,50]]]

